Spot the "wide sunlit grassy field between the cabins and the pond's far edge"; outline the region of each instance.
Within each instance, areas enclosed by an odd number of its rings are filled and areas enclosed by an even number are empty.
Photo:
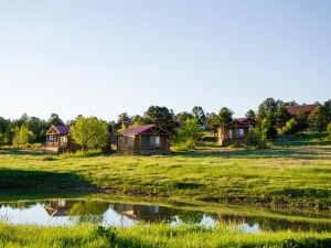
[[[1,188],[78,188],[330,209],[331,147],[213,149],[169,157],[63,158],[0,152]]]

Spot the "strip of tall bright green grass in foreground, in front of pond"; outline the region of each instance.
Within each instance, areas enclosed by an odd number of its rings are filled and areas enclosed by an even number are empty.
[[[38,235],[35,235],[38,234]],[[137,226],[126,229],[95,226],[35,227],[0,224],[3,247],[330,247],[331,234],[243,234],[234,227]]]

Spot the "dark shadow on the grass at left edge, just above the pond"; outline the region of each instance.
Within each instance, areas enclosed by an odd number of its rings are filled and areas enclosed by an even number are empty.
[[[12,170],[0,168],[0,188],[68,188],[90,185],[87,180],[75,173],[49,172],[36,170]]]

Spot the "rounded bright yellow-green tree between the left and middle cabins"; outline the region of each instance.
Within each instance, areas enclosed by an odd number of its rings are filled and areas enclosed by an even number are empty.
[[[71,133],[83,150],[104,148],[108,140],[107,123],[96,117],[78,117],[71,127]]]

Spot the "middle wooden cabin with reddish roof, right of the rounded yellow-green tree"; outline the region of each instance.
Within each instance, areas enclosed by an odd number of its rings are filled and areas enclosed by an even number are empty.
[[[168,154],[170,133],[157,125],[130,128],[117,136],[117,152],[136,155]]]

